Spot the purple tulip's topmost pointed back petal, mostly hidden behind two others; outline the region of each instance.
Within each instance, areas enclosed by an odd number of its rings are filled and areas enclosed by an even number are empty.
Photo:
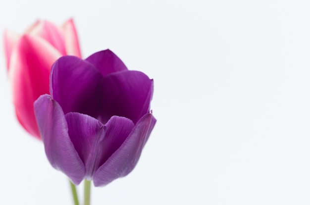
[[[95,65],[103,76],[117,71],[127,70],[121,59],[110,50],[96,52],[85,60]]]

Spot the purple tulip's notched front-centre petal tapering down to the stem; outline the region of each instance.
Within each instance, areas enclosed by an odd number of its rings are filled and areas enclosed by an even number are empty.
[[[95,171],[128,137],[133,122],[113,116],[103,126],[97,119],[80,113],[66,114],[69,136],[85,164],[86,178],[92,180]]]

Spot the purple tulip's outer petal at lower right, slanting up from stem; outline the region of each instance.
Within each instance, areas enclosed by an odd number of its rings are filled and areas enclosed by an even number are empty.
[[[144,115],[133,128],[124,143],[114,152],[94,175],[94,185],[104,186],[119,177],[126,176],[136,166],[156,119]]]

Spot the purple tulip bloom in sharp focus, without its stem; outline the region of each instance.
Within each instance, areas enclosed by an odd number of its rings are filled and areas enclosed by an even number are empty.
[[[52,96],[40,96],[34,109],[52,166],[74,184],[85,178],[95,186],[130,173],[156,122],[153,80],[105,50],[60,57],[50,81]]]

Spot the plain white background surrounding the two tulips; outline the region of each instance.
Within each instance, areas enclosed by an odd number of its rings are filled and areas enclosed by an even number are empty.
[[[0,32],[70,17],[84,57],[109,48],[155,81],[140,161],[93,205],[310,204],[310,1],[0,1]],[[3,56],[1,204],[71,205],[15,118]]]

